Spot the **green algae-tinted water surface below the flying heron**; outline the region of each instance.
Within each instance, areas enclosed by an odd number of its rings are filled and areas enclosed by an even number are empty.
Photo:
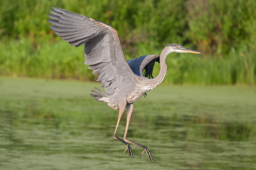
[[[253,170],[256,87],[160,85],[134,104],[128,138],[100,84],[0,77],[0,170]],[[125,114],[118,136],[122,138]]]

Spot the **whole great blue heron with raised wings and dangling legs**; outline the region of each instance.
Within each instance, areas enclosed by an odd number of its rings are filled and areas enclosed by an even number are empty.
[[[126,145],[130,157],[133,153],[129,143],[143,148],[141,155],[146,152],[148,159],[154,161],[151,152],[146,146],[135,143],[126,138],[128,125],[133,113],[133,102],[137,101],[149,90],[158,86],[167,72],[166,57],[170,52],[200,53],[195,50],[182,47],[178,44],[169,44],[161,52],[161,55],[144,55],[126,61],[120,44],[117,31],[110,25],[101,21],[88,18],[83,15],[69,12],[57,7],[50,12],[48,21],[56,35],[76,47],[84,44],[85,65],[90,65],[94,74],[100,73],[97,81],[105,87],[104,93],[95,88],[92,95],[95,100],[107,102],[113,109],[119,109],[118,121],[113,137]],[[159,75],[153,78],[154,62],[160,62]],[[143,76],[143,70],[145,75]],[[151,79],[150,79],[151,78]],[[118,124],[123,112],[127,110],[127,123],[123,140],[116,135]],[[141,157],[140,155],[140,157]]]

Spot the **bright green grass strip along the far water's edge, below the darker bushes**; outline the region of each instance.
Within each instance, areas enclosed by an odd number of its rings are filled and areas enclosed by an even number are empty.
[[[97,75],[84,65],[84,47],[71,47],[64,40],[44,40],[34,47],[28,39],[11,40],[0,46],[0,75],[95,81]],[[160,50],[140,47],[138,55],[160,54]],[[167,84],[256,84],[256,54],[231,52],[223,58],[193,54],[167,57]],[[127,60],[136,57],[126,55]],[[156,63],[154,76],[159,73]]]

